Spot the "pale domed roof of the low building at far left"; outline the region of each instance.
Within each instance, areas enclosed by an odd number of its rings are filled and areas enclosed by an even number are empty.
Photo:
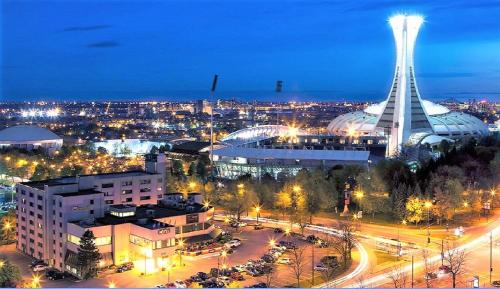
[[[50,130],[32,125],[18,125],[0,131],[0,142],[35,142],[60,140]]]

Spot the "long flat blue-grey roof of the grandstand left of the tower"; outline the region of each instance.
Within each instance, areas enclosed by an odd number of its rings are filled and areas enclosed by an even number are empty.
[[[291,159],[291,160],[335,160],[368,161],[369,151],[345,150],[304,150],[304,149],[262,149],[245,147],[225,147],[214,150],[214,155],[253,159]]]

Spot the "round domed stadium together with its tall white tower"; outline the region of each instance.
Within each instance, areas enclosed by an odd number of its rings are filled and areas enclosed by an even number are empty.
[[[453,112],[422,100],[417,87],[413,52],[423,18],[413,15],[391,17],[396,42],[396,68],[387,100],[335,118],[328,131],[337,135],[377,135],[388,139],[387,156],[407,146],[436,144],[467,136],[488,134],[488,127],[474,116]],[[431,137],[432,136],[432,137]]]

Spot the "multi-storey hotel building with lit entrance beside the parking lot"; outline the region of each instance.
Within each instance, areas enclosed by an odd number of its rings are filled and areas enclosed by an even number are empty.
[[[137,267],[147,273],[164,267],[177,239],[211,236],[213,208],[203,207],[199,194],[164,195],[164,173],[156,169],[164,166],[156,158],[147,158],[146,171],[18,184],[17,249],[78,275],[79,240],[91,230],[100,266],[141,260]]]

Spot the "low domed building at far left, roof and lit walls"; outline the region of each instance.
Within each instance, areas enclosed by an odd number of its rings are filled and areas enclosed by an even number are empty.
[[[0,131],[0,148],[15,147],[25,150],[42,148],[53,152],[60,149],[62,144],[62,138],[43,127],[18,125]]]

